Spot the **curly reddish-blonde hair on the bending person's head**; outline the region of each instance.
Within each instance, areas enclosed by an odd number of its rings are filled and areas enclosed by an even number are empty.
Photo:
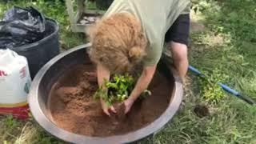
[[[89,36],[90,59],[112,73],[129,72],[146,54],[146,37],[141,23],[132,14],[102,18],[90,29]]]

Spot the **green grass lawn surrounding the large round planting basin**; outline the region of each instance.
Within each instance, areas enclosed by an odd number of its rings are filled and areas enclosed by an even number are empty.
[[[223,82],[256,99],[256,2],[193,0],[190,64],[210,80]],[[35,6],[60,26],[60,42],[69,49],[86,42],[70,30],[64,3],[58,0],[0,2],[0,18],[11,6]],[[199,118],[196,105],[210,115]],[[0,117],[1,143],[63,143],[46,134],[31,118]],[[256,108],[226,94],[216,84],[188,74],[184,106],[152,140],[140,143],[256,143]]]

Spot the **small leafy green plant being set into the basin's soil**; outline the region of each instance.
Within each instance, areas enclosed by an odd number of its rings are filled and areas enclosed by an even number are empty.
[[[98,88],[94,94],[94,98],[102,98],[108,106],[112,106],[115,102],[125,101],[130,96],[135,84],[134,78],[129,74],[115,74],[114,77],[110,79],[110,82],[105,80],[104,86]],[[103,87],[106,87],[106,89],[103,89]],[[146,96],[150,94],[150,90],[144,90],[140,98],[146,98]]]

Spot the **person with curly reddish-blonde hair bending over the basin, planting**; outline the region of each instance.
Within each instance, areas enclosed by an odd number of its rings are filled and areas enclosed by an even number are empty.
[[[188,68],[187,44],[190,29],[190,0],[114,0],[102,19],[91,27],[89,55],[97,65],[98,85],[110,74],[134,70],[142,63],[142,74],[126,99],[125,113],[149,86],[163,53],[171,51],[174,67],[181,78]],[[102,101],[102,100],[101,100]],[[113,106],[102,101],[110,115]]]

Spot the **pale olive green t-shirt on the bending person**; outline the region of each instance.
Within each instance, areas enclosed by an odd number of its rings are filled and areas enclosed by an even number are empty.
[[[114,0],[104,17],[122,12],[141,21],[149,41],[144,65],[152,66],[161,58],[167,30],[180,14],[190,13],[190,0]]]

